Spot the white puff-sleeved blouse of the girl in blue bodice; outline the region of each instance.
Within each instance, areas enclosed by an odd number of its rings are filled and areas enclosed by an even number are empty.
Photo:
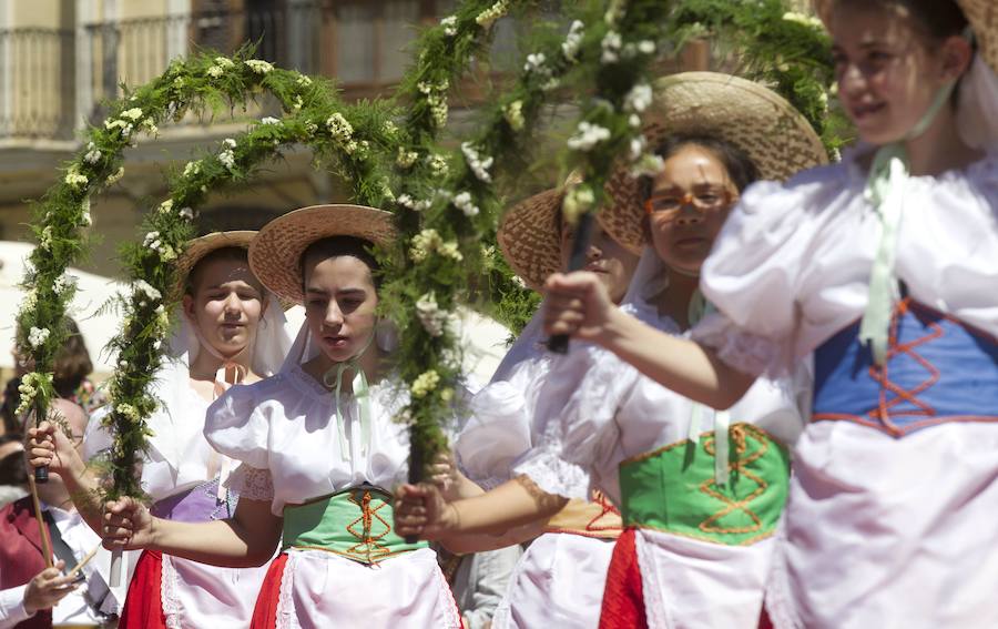
[[[786,369],[863,316],[879,219],[856,154],[752,185],[703,267],[723,313],[694,338],[761,374]],[[904,187],[895,272],[918,302],[998,336],[998,153]]]

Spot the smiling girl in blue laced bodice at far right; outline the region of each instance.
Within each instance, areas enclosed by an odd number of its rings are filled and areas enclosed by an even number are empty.
[[[998,12],[837,0],[822,14],[863,142],[745,194],[702,276],[720,314],[695,342],[666,337],[579,274],[551,280],[548,328],[715,407],[813,353],[773,622],[994,627]]]

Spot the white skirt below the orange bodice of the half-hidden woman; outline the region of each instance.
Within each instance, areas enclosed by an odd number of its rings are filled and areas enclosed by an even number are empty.
[[[612,539],[538,537],[517,564],[493,629],[595,629],[612,555]]]

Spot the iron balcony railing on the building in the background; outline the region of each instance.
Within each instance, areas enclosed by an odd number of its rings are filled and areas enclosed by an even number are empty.
[[[145,83],[170,60],[194,50],[231,53],[246,41],[257,45],[257,57],[281,67],[336,79],[347,98],[377,95],[405,72],[417,27],[431,23],[454,2],[247,4],[247,10],[81,24],[75,31],[0,31],[0,141],[72,140],[84,120],[104,115],[102,103],[121,95],[121,83]]]

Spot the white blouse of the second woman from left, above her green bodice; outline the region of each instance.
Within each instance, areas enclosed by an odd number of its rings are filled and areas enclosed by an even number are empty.
[[[391,419],[406,404],[405,394],[383,379],[371,384],[370,399],[368,444],[357,400],[342,395],[340,432],[335,395],[296,365],[225,392],[208,408],[204,436],[220,453],[245,464],[233,475],[233,487],[246,498],[273,497],[272,509],[279,516],[285,505],[365,483],[390,491],[406,480],[409,430]],[[253,469],[268,471],[269,479]]]

